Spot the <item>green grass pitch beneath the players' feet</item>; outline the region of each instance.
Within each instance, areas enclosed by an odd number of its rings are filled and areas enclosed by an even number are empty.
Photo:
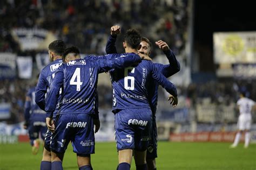
[[[255,170],[256,145],[245,149],[228,148],[229,143],[171,143],[159,142],[157,169],[225,169]],[[92,155],[93,169],[111,169],[117,167],[117,152],[114,143],[96,143],[96,154]],[[31,154],[29,143],[0,144],[0,169],[39,169],[42,148],[37,155]],[[65,154],[64,169],[78,169],[76,154],[72,146]],[[134,161],[131,169],[136,169]]]

